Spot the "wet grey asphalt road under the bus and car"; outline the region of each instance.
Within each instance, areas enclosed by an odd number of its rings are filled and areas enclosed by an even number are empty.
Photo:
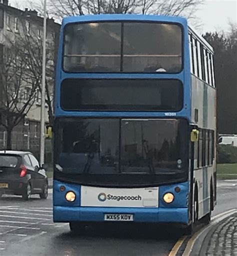
[[[220,182],[213,215],[236,207],[237,182]],[[232,199],[232,200],[231,200]],[[236,202],[236,201],[235,201]],[[32,196],[0,199],[0,255],[168,255],[181,235],[165,226],[89,228],[73,236],[68,224],[52,222],[52,194],[47,200]]]

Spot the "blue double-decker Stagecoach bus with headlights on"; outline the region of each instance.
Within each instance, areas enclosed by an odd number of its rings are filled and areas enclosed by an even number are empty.
[[[179,17],[62,21],[53,220],[173,223],[216,203],[212,47]]]

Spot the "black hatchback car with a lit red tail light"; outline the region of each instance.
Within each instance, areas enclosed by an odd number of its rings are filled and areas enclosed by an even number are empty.
[[[30,152],[0,151],[0,196],[3,194],[21,195],[24,200],[32,194],[47,198],[45,170]]]

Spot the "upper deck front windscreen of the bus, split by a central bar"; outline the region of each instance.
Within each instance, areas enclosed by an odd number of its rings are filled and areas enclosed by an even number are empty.
[[[182,30],[176,24],[100,22],[64,29],[65,72],[178,73]]]

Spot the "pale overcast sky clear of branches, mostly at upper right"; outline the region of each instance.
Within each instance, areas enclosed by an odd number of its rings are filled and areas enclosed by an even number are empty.
[[[33,1],[38,2],[39,0]],[[27,7],[28,0],[9,0],[9,3],[11,6],[18,4],[21,9],[24,9]],[[202,33],[226,31],[229,21],[237,23],[237,0],[206,0],[196,15],[202,24]]]

